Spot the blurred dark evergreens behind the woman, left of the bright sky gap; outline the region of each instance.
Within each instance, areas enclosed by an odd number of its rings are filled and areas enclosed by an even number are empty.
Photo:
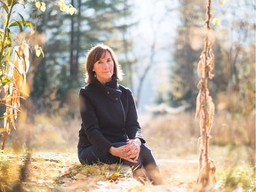
[[[37,30],[47,36],[44,59],[40,60],[34,78],[31,98],[37,112],[60,112],[62,108],[74,116],[77,108],[69,108],[68,99],[73,89],[84,85],[84,58],[93,44],[112,44],[113,49],[123,47],[124,23],[129,9],[125,1],[72,1],[77,14],[63,15],[54,11],[53,5],[46,12],[31,12],[37,20]],[[37,17],[35,17],[37,15]],[[129,49],[129,45],[125,45]],[[127,51],[126,51],[127,52]],[[125,53],[125,52],[124,52]],[[124,60],[125,61],[125,60]],[[69,95],[69,96],[68,96]],[[72,111],[74,109],[74,111]]]

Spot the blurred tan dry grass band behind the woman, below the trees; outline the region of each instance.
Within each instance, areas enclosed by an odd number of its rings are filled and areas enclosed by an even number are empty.
[[[194,113],[151,116],[140,114],[142,132],[156,158],[197,156],[200,130]],[[253,152],[255,117],[217,113],[213,122],[211,148],[214,146],[246,146]],[[35,124],[19,124],[6,143],[7,150],[26,150],[26,137],[34,151],[76,153],[80,119],[36,115]],[[214,151],[213,151],[214,152]],[[251,152],[251,153],[252,153]]]

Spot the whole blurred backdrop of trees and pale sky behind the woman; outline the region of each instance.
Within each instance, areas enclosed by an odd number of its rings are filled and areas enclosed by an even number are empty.
[[[164,4],[162,9],[165,17],[159,16],[159,10],[150,10],[149,5],[148,10],[141,10],[140,7],[139,10],[138,4],[129,0],[73,0],[70,3],[76,6],[76,14],[61,14],[54,9],[53,4],[48,4],[45,12],[32,8],[28,10],[29,17],[36,23],[38,36],[35,36],[35,41],[40,41],[39,35],[45,37],[44,42],[41,40],[44,58],[34,60],[35,68],[28,72],[32,86],[30,98],[36,112],[48,110],[59,113],[60,108],[63,108],[63,113],[70,113],[71,109],[76,111],[76,108],[68,107],[68,97],[74,99],[77,89],[84,85],[86,52],[93,44],[100,43],[109,44],[116,51],[124,70],[122,83],[132,89],[139,108],[144,108],[140,106],[140,100],[148,97],[143,92],[147,92],[145,86],[150,81],[156,92],[146,104],[154,105],[155,100],[158,104],[164,102],[172,107],[189,104],[190,108],[195,108],[198,80],[196,62],[204,37],[204,30],[201,30],[204,25],[204,2],[182,0],[170,4],[167,0],[162,3],[150,1],[156,5],[155,8],[157,4]],[[220,106],[233,112],[243,110],[244,114],[250,113],[255,107],[255,103],[252,104],[255,92],[253,6],[250,1],[222,1],[212,6],[213,21],[216,18],[220,21],[212,22],[216,63],[215,78],[211,84],[214,92],[212,97],[219,100],[220,97],[225,98],[224,95],[236,95],[234,101],[221,101]],[[235,11],[238,7],[241,9],[239,13]],[[148,12],[148,18],[136,17],[138,11]],[[172,20],[177,21],[176,28],[168,27]],[[140,29],[143,22],[148,22],[151,33],[147,34],[148,39],[141,42],[138,38],[143,36],[138,37],[136,30]],[[166,36],[163,44],[165,37],[161,30],[170,30],[172,41],[169,41],[170,36]],[[156,66],[163,60],[164,70],[168,71],[164,73],[167,79],[164,91],[160,90],[161,84],[150,80],[151,76],[161,74]],[[245,99],[243,103],[236,103],[239,98]],[[74,116],[75,111],[70,115]]]

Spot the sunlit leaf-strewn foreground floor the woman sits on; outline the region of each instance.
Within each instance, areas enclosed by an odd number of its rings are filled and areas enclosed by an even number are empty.
[[[22,174],[20,167],[24,170],[27,160],[26,155],[0,155],[2,165],[0,179],[8,183],[6,186],[11,191],[17,190],[15,188],[20,184],[17,180],[24,179],[25,174]],[[230,163],[228,159],[218,159],[217,164],[221,164],[221,166],[217,165],[218,181],[208,191],[235,191],[239,188],[242,190],[238,191],[254,191],[255,174],[252,169],[248,170],[248,167],[246,168],[243,164],[239,164],[239,167],[243,167],[240,171],[235,169],[232,171],[236,175],[236,178],[230,176],[233,180],[231,183],[233,188],[224,189],[223,186],[227,184],[228,178],[223,177],[223,174],[225,175],[226,172],[227,176],[230,172]],[[182,159],[157,159],[157,164],[164,178],[164,186],[153,186],[149,182],[142,184],[132,178],[129,167],[120,164],[81,165],[74,153],[37,152],[30,156],[26,171],[27,178],[22,182],[22,188],[25,191],[193,191],[198,174],[196,156],[182,157]],[[4,188],[4,182],[0,187]],[[247,189],[243,190],[243,187]]]

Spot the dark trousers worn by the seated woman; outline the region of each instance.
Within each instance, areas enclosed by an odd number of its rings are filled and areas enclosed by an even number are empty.
[[[120,147],[123,145],[125,145],[125,142],[113,143],[114,147]],[[144,144],[141,144],[140,146],[140,156],[137,164],[133,164],[117,156],[112,156],[110,153],[107,155],[102,154],[102,152],[94,146],[78,148],[78,158],[81,164],[126,164],[134,168],[140,168],[142,166],[146,167],[147,165],[153,165],[153,167],[156,166],[156,161],[151,150]]]

